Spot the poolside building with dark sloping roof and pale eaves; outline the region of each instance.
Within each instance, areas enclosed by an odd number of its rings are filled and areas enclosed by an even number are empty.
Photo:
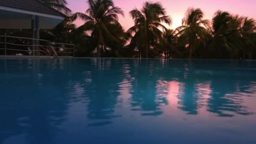
[[[32,29],[36,39],[39,29],[52,29],[64,17],[39,0],[0,0],[0,29]]]

